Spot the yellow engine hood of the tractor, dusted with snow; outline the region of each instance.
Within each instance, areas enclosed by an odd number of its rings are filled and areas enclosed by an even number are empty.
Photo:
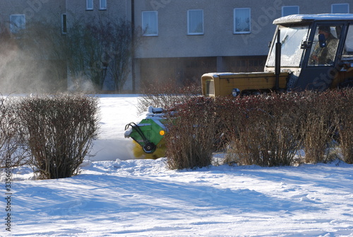
[[[280,74],[279,86],[286,88],[287,72]],[[275,88],[273,72],[215,73],[202,76],[203,96],[231,96],[232,90],[264,90]]]

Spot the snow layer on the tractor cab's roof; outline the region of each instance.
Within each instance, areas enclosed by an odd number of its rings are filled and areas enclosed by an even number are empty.
[[[290,16],[283,16],[281,18],[275,19],[273,24],[287,24],[287,23],[300,23],[300,22],[310,22],[310,21],[342,21],[342,20],[352,20],[353,14],[297,14]]]

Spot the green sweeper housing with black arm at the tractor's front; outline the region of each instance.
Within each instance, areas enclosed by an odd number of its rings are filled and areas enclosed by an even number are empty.
[[[124,136],[126,138],[131,137],[136,141],[145,154],[154,154],[157,148],[162,149],[162,154],[164,154],[165,148],[161,147],[161,144],[163,144],[162,139],[166,133],[164,121],[163,109],[150,107],[146,117],[138,124],[131,122],[125,126]],[[158,156],[160,155],[155,155],[152,158],[159,158]]]

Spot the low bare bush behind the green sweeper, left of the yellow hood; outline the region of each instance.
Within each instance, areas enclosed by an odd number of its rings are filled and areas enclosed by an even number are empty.
[[[186,103],[190,98],[201,93],[201,87],[196,85],[179,87],[173,83],[151,83],[143,87],[138,98],[138,113],[145,112],[149,106],[169,109],[179,103]]]

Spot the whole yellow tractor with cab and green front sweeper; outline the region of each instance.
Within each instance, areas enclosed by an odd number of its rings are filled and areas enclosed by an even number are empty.
[[[277,28],[263,72],[203,74],[203,96],[247,96],[270,91],[325,91],[353,86],[353,14],[292,15]],[[150,108],[125,137],[137,144],[136,157],[164,156],[163,110]]]

